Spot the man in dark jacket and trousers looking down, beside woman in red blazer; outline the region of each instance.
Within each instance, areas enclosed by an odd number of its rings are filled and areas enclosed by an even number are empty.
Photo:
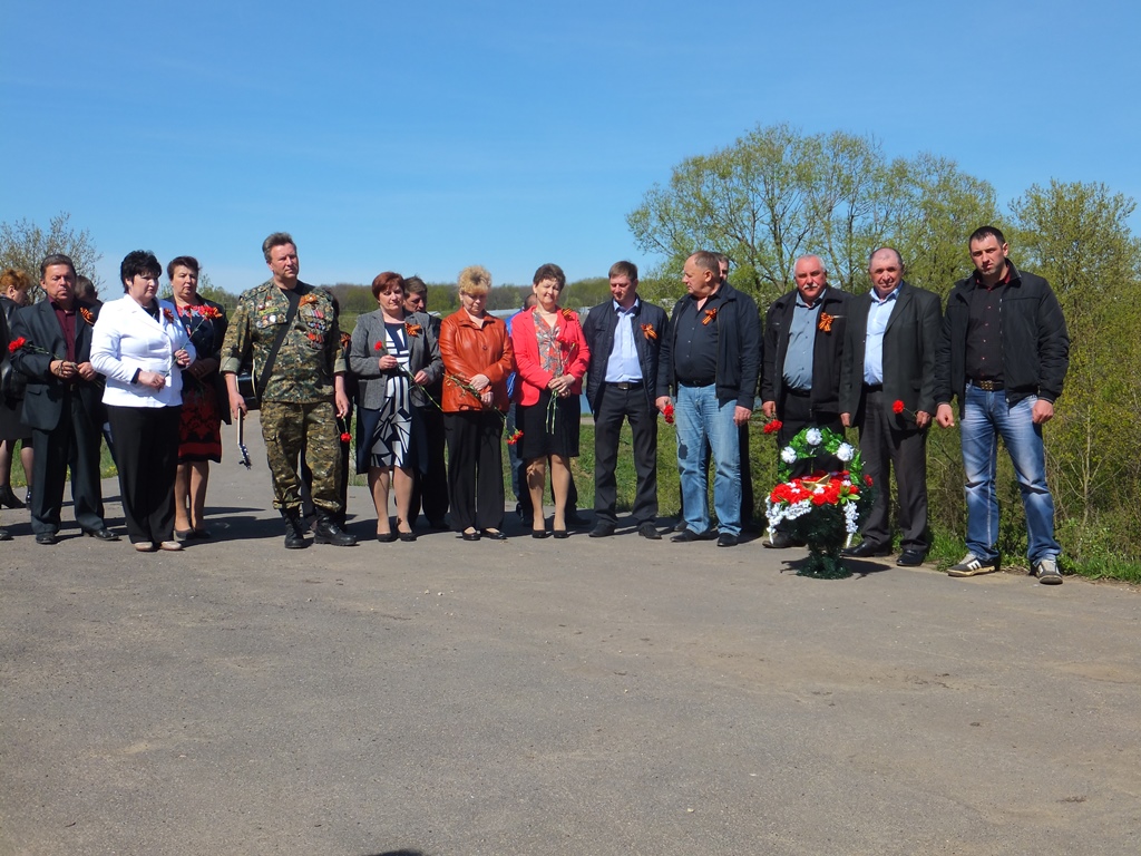
[[[591,538],[614,534],[617,525],[618,435],[622,420],[633,434],[638,487],[633,518],[638,534],[657,541],[657,414],[670,403],[670,320],[665,309],[638,297],[638,268],[610,266],[610,297],[582,325],[590,349],[586,399],[594,413],[594,528]]]

